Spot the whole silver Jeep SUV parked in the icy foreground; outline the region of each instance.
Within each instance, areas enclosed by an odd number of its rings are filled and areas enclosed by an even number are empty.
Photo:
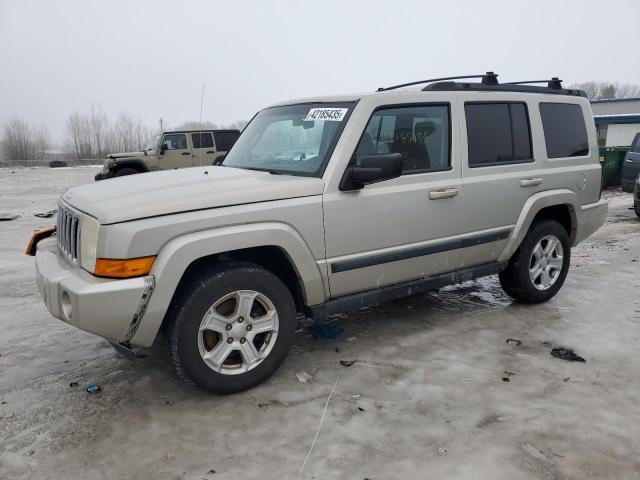
[[[220,166],[69,189],[27,249],[47,308],[119,348],[163,332],[180,376],[230,393],[278,369],[300,313],[496,273],[549,300],[607,211],[591,108],[478,78],[283,102]]]

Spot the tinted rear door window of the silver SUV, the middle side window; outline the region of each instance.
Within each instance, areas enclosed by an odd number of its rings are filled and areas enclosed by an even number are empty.
[[[466,103],[464,109],[470,167],[533,161],[524,103]]]

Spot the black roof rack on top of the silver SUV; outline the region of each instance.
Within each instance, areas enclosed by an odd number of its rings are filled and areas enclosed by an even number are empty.
[[[468,78],[480,78],[479,83],[470,82],[454,82],[451,80],[465,80]],[[498,83],[498,74],[494,72],[486,72],[481,75],[464,75],[458,77],[441,77],[431,78],[429,80],[420,80],[418,82],[401,83],[391,87],[380,87],[378,92],[386,92],[412,85],[420,85],[428,83],[422,91],[493,91],[493,92],[527,92],[527,93],[551,93],[556,95],[574,95],[578,97],[586,97],[587,94],[582,90],[562,88],[562,80],[558,77],[552,77],[550,80],[526,80],[519,82]],[[546,83],[547,85],[536,86],[529,85],[532,83]]]

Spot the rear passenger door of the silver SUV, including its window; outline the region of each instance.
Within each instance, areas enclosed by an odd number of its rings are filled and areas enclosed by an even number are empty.
[[[487,98],[491,98],[490,101]],[[534,157],[532,105],[522,97],[461,95],[464,234],[469,264],[495,261],[526,200],[545,188],[542,160]]]

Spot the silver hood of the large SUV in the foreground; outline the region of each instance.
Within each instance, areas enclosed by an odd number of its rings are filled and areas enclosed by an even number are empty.
[[[63,200],[107,225],[206,208],[322,194],[315,177],[231,167],[194,167],[127,175],[67,190]]]

